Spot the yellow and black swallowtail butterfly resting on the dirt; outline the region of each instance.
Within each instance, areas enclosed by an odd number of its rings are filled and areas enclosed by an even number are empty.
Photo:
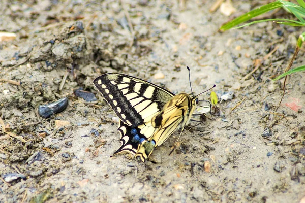
[[[198,95],[175,95],[125,74],[103,74],[93,83],[120,120],[121,146],[112,156],[128,152],[145,161],[179,127],[181,135],[199,103]]]

